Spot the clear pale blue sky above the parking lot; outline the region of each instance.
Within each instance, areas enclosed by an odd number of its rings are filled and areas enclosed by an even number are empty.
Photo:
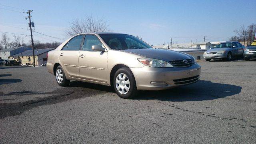
[[[92,14],[104,17],[113,32],[154,45],[170,42],[170,36],[175,43],[201,42],[206,35],[208,41],[227,40],[240,25],[256,23],[256,0],[1,0],[1,32],[30,34],[22,9],[33,10],[35,31],[49,36],[67,38],[70,21]],[[63,42],[36,33],[34,40]]]

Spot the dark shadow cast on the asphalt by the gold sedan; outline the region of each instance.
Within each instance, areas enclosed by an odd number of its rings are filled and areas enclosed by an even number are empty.
[[[103,86],[99,84],[90,84],[87,82],[70,82],[69,87],[81,87],[90,88],[94,90],[115,92],[114,88],[110,86]],[[136,100],[163,100],[163,101],[202,101],[202,100],[214,100],[217,98],[224,98],[226,96],[232,96],[239,94],[242,87],[232,84],[220,84],[211,82],[208,80],[200,80],[197,83],[187,86],[180,86],[168,90],[142,90],[139,91]]]

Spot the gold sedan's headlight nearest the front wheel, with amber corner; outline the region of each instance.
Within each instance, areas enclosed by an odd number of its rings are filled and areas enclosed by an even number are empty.
[[[158,60],[154,58],[138,58],[138,61],[140,61],[142,64],[150,67],[156,67],[156,68],[172,68],[173,66],[169,64],[168,62],[165,62],[163,60]]]

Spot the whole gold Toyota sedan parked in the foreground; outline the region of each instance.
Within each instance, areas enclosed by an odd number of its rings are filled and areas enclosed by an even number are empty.
[[[193,56],[156,49],[146,42],[118,33],[73,36],[48,53],[48,72],[60,86],[78,80],[113,86],[121,98],[138,90],[164,90],[200,79]]]

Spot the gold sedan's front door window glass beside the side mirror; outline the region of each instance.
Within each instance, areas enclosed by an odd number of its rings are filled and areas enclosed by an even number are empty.
[[[97,36],[86,35],[84,38],[83,50],[91,51],[93,45],[100,45],[100,46],[104,47]]]

